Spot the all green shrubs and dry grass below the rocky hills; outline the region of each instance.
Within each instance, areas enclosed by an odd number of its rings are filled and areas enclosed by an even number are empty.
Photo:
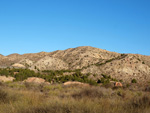
[[[72,73],[71,75],[65,73]],[[149,113],[149,83],[140,89],[135,79],[123,87],[109,85],[116,81],[102,74],[98,81],[80,70],[0,69],[0,75],[12,76],[13,82],[0,82],[0,113]],[[96,77],[96,75],[93,75]],[[43,78],[51,84],[23,82],[28,77]],[[89,85],[70,84],[79,81]],[[138,88],[137,88],[138,87]]]

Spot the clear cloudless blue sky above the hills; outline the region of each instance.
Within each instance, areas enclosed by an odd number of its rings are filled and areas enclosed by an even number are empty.
[[[0,0],[0,54],[77,46],[150,55],[150,0]]]

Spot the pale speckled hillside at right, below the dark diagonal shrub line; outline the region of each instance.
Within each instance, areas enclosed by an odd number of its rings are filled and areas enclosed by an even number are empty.
[[[126,82],[131,82],[133,78],[138,81],[150,80],[150,67],[139,60],[134,55],[127,55],[121,59],[99,66],[90,66],[82,70],[83,73],[107,74]]]

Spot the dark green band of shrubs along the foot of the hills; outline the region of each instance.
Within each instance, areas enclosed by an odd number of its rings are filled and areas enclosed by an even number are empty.
[[[63,75],[65,72],[74,72],[71,75]],[[88,79],[89,74],[82,74],[79,70],[45,70],[35,73],[29,69],[0,69],[0,75],[12,76],[15,81],[24,81],[28,77],[39,77],[45,79],[47,82],[64,83],[67,81],[79,81],[83,83],[89,83],[91,85],[97,85],[97,82]]]

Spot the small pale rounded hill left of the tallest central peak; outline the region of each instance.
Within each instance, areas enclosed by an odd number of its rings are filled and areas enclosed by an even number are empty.
[[[39,69],[39,70],[62,70],[68,69],[68,64],[65,63],[63,60],[58,58],[53,58],[46,56],[36,62],[32,67],[32,70]]]

